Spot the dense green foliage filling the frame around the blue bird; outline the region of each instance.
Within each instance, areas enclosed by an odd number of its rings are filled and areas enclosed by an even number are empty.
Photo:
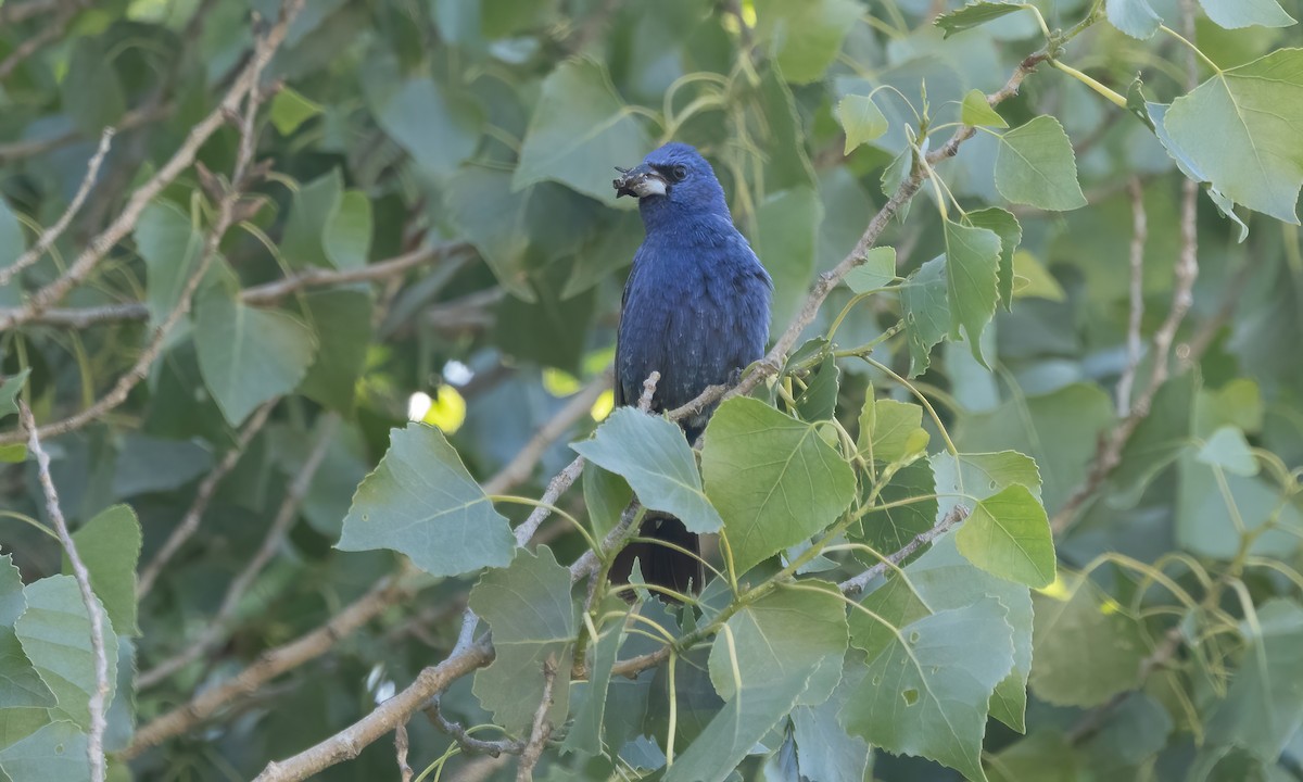
[[[42,425],[100,411],[44,447],[107,618],[113,778],[251,778],[448,657],[469,601],[496,658],[442,714],[529,738],[550,659],[550,779],[662,774],[667,753],[666,779],[1303,779],[1300,12],[311,0],[263,74],[242,193],[236,106],[35,313],[279,4],[4,0],[0,272],[117,133],[68,229],[0,287],[0,778],[85,778],[95,688],[21,395]],[[1194,74],[1160,25],[1197,44]],[[702,149],[775,280],[777,338],[962,124],[980,130],[698,455],[606,417],[641,240],[614,166]],[[541,497],[576,451],[559,504],[590,538],[632,486],[731,541],[700,605],[598,593],[584,615],[566,566],[592,540],[552,519],[519,550],[533,508],[499,495]],[[848,607],[837,581],[956,506]],[[696,643],[612,673],[663,633]],[[417,774],[515,774],[420,713],[407,742]],[[394,743],[321,778],[400,778]]]

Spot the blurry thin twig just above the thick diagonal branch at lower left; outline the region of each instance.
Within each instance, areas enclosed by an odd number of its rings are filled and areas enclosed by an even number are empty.
[[[262,545],[258,546],[258,551],[253,555],[244,570],[231,581],[227,586],[225,597],[222,598],[222,606],[218,613],[208,620],[205,626],[203,632],[197,637],[185,650],[175,657],[160,662],[152,669],[143,671],[137,679],[137,688],[146,689],[158,684],[159,682],[167,679],[176,671],[190,665],[210,649],[216,645],[218,641],[225,637],[229,631],[231,618],[235,615],[236,609],[240,606],[240,600],[244,597],[249,586],[253,585],[254,579],[262,573],[262,568],[271,562],[271,558],[276,555],[280,550],[280,545],[293,525],[294,520],[298,519],[298,506],[302,504],[304,498],[308,495],[308,487],[311,486],[313,477],[317,474],[317,468],[321,467],[322,460],[326,457],[326,451],[330,450],[330,444],[335,438],[335,430],[339,426],[339,417],[334,413],[327,413],[318,425],[317,443],[313,446],[311,452],[304,460],[304,465],[300,468],[294,480],[291,482],[289,489],[285,491],[284,499],[280,502],[280,508],[276,511],[276,517],[267,529],[267,534],[263,537]]]

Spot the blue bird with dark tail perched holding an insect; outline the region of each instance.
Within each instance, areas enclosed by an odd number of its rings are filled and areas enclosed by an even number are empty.
[[[652,409],[671,411],[765,355],[774,283],[734,227],[724,190],[696,149],[667,143],[619,171],[616,197],[638,199],[646,239],[620,305],[615,404],[637,404],[642,382],[658,371]],[[679,422],[689,443],[713,412],[710,405]],[[672,516],[649,514],[640,534],[701,553],[696,533]],[[701,588],[698,559],[642,542],[620,553],[611,579],[627,580],[635,558],[649,584],[683,593]]]

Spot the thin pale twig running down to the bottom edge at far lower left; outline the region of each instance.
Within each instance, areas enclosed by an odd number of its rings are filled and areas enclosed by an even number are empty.
[[[86,615],[90,618],[90,653],[95,662],[95,689],[91,691],[87,701],[90,710],[90,735],[86,743],[86,753],[90,757],[90,778],[93,782],[104,782],[104,731],[108,722],[104,718],[104,708],[108,701],[108,653],[104,646],[104,615],[100,613],[99,601],[90,588],[90,571],[77,553],[77,543],[73,542],[72,533],[68,532],[68,523],[64,512],[59,507],[59,491],[55,490],[55,481],[50,477],[50,455],[40,446],[36,435],[36,420],[31,414],[27,403],[18,400],[18,416],[27,430],[27,450],[36,457],[36,472],[40,476],[40,487],[46,493],[46,512],[55,525],[59,543],[68,555],[68,562],[73,568],[73,577],[81,590],[82,603],[86,606]]]

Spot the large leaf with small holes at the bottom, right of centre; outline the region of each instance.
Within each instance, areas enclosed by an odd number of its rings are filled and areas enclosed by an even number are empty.
[[[925,616],[869,661],[842,723],[874,747],[985,782],[986,704],[1012,665],[1012,628],[995,600]]]

